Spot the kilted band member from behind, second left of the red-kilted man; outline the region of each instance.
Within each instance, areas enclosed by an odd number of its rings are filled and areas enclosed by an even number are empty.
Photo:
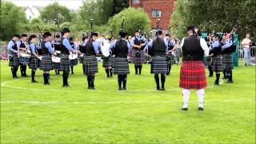
[[[119,36],[121,38],[111,43],[110,50],[114,55],[114,74],[118,74],[118,90],[127,90],[127,74],[130,74],[127,55],[130,52],[130,43],[126,40],[125,31],[120,31]]]

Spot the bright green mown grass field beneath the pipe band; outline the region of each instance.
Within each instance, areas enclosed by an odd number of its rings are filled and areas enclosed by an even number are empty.
[[[179,110],[180,66],[167,76],[166,91],[154,90],[150,65],[141,76],[130,66],[126,91],[98,66],[97,90],[87,90],[81,65],[70,88],[62,88],[54,71],[44,86],[41,70],[34,84],[11,78],[8,63],[1,62],[1,143],[255,143],[255,66],[235,68],[233,84],[214,86],[207,78],[202,112],[194,90],[189,111]]]

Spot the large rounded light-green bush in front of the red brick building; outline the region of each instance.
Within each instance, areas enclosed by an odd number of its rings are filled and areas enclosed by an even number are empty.
[[[115,36],[118,35],[119,30],[121,29],[122,18],[125,19],[123,30],[128,34],[133,35],[134,30],[141,30],[142,32],[148,33],[150,31],[150,18],[149,16],[141,9],[127,8],[122,10],[120,13],[114,15],[110,19],[110,29],[113,30]]]

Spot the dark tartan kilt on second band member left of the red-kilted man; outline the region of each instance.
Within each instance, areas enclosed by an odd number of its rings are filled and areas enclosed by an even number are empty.
[[[114,58],[114,74],[130,74],[127,58]]]

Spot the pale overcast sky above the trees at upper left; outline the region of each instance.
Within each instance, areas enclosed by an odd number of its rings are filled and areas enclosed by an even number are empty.
[[[82,6],[83,0],[4,0],[13,2],[16,6],[47,6],[50,3],[58,2],[62,6],[68,7],[70,10],[78,10]]]

